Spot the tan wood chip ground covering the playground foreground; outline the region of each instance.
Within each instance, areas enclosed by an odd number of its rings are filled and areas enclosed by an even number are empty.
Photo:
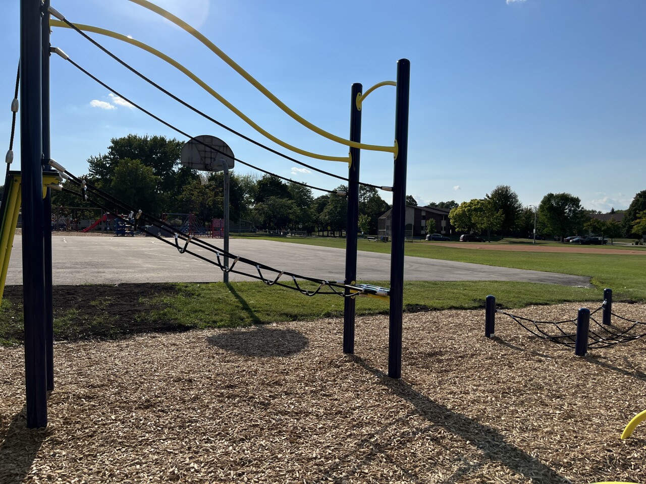
[[[0,482],[646,482],[646,423],[619,438],[646,409],[646,339],[579,358],[502,315],[486,339],[483,319],[404,314],[399,381],[386,317],[357,319],[355,356],[340,319],[57,343],[40,430],[23,350],[0,348]]]

